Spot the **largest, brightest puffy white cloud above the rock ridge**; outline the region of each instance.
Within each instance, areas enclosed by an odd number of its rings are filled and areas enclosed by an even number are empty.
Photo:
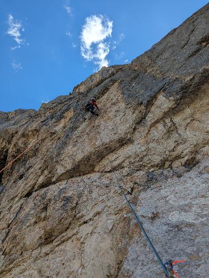
[[[98,69],[108,66],[109,42],[104,40],[111,37],[112,26],[113,21],[102,15],[87,17],[82,26],[81,54],[87,61],[98,65]]]

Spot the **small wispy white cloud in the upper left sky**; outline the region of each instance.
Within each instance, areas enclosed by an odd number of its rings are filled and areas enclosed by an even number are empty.
[[[17,46],[11,48],[12,50],[15,50],[16,48],[20,48],[21,44],[24,44],[24,39],[21,38],[21,31],[24,32],[25,29],[22,27],[20,21],[14,21],[14,18],[11,14],[8,17],[8,24],[9,29],[7,30],[7,34],[14,37],[15,41],[17,42]]]

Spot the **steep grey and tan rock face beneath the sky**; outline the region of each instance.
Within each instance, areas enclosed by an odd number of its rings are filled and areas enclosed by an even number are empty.
[[[1,176],[1,278],[164,277],[115,174],[162,260],[208,277],[208,32],[209,4],[130,64],[0,113],[1,168],[52,129]],[[92,96],[99,117],[79,110]]]

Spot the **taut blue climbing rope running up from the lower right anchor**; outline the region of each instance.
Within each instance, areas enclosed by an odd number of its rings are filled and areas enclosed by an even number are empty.
[[[99,133],[98,133],[98,134],[99,134]],[[100,137],[101,142],[103,143],[100,134],[99,134],[99,137]],[[115,170],[113,169],[111,160],[110,160],[108,157],[107,157],[107,159],[108,159],[108,161],[109,161],[109,163],[110,163],[110,166],[111,166],[112,171],[114,172],[115,178],[116,178],[116,180],[117,180],[117,182],[118,182],[118,185],[119,185],[119,188],[120,188],[120,190],[121,190],[121,192],[122,192],[122,195],[123,195],[123,197],[124,197],[126,203],[128,204],[128,206],[129,206],[129,208],[130,208],[132,214],[134,215],[136,221],[138,222],[139,227],[141,228],[142,233],[144,234],[144,236],[145,236],[146,240],[148,241],[150,247],[152,248],[153,252],[155,253],[155,255],[156,255],[156,257],[157,257],[157,260],[158,260],[159,264],[161,265],[163,271],[165,272],[165,274],[167,275],[168,278],[171,278],[171,276],[170,276],[170,274],[169,274],[167,268],[165,267],[165,265],[163,264],[162,260],[160,259],[160,257],[159,257],[159,255],[158,255],[158,253],[157,253],[157,251],[156,251],[156,249],[155,249],[153,243],[151,242],[151,240],[150,240],[150,238],[148,237],[147,233],[145,232],[145,230],[144,230],[144,228],[143,228],[141,222],[139,221],[139,218],[138,218],[136,212],[134,211],[132,205],[131,205],[130,202],[128,201],[128,199],[127,199],[127,197],[126,197],[126,194],[125,194],[125,192],[124,192],[124,190],[123,190],[123,187],[122,187],[122,185],[121,185],[120,182],[119,182],[119,179],[118,179],[118,177],[117,177],[117,175],[116,175],[116,173],[115,173]]]

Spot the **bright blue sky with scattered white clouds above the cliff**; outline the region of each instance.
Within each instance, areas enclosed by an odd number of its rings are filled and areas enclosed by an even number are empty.
[[[0,0],[0,111],[39,109],[148,50],[208,0]]]

